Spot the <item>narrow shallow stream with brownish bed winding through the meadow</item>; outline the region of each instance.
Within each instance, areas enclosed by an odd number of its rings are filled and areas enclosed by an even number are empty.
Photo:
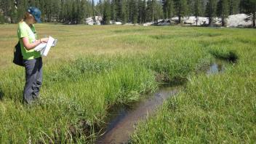
[[[225,63],[216,61],[207,68],[207,75],[223,73]],[[176,95],[182,86],[160,87],[159,90],[149,97],[132,103],[129,106],[119,106],[110,113],[110,121],[104,135],[97,139],[97,144],[127,143],[129,135],[135,130],[138,121],[143,121],[151,116],[168,97]]]

